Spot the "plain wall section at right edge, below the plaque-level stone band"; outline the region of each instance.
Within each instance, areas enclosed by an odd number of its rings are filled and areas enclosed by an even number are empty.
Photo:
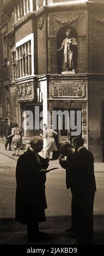
[[[104,82],[88,83],[88,145],[96,161],[102,161],[101,100],[104,99]]]

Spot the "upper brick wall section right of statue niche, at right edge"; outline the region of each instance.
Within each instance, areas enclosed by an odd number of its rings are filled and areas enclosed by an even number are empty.
[[[104,11],[101,16],[104,19]],[[103,22],[97,22],[94,19],[95,18],[93,17],[93,14],[89,13],[88,72],[103,73],[104,72],[104,57],[103,57],[104,56],[104,44],[103,44],[104,26],[103,26]],[[96,16],[96,19],[97,19],[97,16]]]

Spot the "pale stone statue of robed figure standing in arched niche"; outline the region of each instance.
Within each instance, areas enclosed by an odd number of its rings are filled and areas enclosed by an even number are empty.
[[[71,30],[67,29],[66,38],[57,51],[64,49],[63,71],[75,71],[77,69],[77,39],[70,36]]]

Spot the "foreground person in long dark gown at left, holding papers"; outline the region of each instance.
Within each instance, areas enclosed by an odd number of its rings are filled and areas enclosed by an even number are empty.
[[[17,161],[16,166],[16,212],[15,220],[27,224],[28,239],[41,239],[46,233],[39,231],[39,222],[46,221],[45,196],[47,160],[38,153],[43,148],[43,139],[34,136],[30,148]]]

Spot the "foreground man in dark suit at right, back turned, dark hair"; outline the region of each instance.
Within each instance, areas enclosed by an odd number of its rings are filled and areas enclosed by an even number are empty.
[[[84,147],[81,137],[72,139],[76,154],[68,166],[70,170],[70,188],[74,200],[76,231],[79,245],[93,244],[93,208],[96,191],[94,175],[94,157]]]

